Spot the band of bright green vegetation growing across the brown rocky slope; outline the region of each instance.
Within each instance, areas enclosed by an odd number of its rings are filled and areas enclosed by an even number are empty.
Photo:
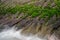
[[[27,14],[31,17],[39,16],[40,18],[52,17],[53,15],[60,15],[60,0],[55,0],[56,7],[41,7],[35,5],[16,5],[15,7],[8,7],[0,5],[0,15],[15,14],[17,12]]]

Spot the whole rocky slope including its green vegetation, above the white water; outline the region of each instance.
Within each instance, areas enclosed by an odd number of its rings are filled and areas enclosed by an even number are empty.
[[[16,26],[25,35],[54,34],[60,40],[59,3],[58,0],[1,0],[0,25]]]

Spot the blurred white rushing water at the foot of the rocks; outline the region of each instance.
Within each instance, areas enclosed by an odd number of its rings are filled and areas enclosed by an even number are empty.
[[[16,31],[15,28],[4,29],[0,32],[0,40],[45,40],[37,36],[24,36],[21,30]]]

